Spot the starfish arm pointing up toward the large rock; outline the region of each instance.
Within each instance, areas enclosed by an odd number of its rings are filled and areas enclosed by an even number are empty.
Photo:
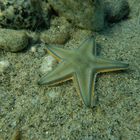
[[[96,55],[96,43],[93,36],[88,37],[80,46],[79,51],[81,54]]]

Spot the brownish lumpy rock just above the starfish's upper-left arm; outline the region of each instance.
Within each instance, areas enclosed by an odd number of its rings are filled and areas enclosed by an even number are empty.
[[[70,38],[71,24],[64,17],[52,20],[51,28],[41,32],[40,40],[49,44],[64,44]]]

